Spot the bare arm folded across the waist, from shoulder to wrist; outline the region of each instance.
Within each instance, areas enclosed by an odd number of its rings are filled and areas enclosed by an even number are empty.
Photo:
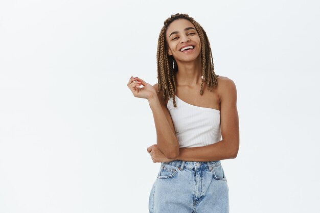
[[[203,147],[180,148],[174,160],[216,161],[236,158],[239,150],[239,118],[235,83],[226,77],[219,79],[220,125],[222,140]]]

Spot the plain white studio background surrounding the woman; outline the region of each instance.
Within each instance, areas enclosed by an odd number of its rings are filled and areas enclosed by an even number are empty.
[[[319,212],[317,1],[1,1],[0,212],[148,212],[146,99],[164,20],[187,13],[238,92],[230,212]]]

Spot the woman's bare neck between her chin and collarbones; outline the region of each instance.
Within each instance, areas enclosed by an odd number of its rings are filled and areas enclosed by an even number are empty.
[[[201,84],[202,61],[199,55],[194,61],[176,61],[178,73],[176,74],[177,86],[196,86]]]

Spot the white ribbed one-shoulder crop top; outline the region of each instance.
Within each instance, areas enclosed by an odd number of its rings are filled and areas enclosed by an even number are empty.
[[[180,147],[202,147],[221,140],[220,110],[194,106],[177,96],[175,100],[177,107],[170,98],[167,108]]]

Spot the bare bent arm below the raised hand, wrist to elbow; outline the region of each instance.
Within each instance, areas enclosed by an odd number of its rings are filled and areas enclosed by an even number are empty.
[[[155,91],[158,90],[157,83],[153,87]],[[148,101],[156,129],[157,147],[168,159],[174,159],[179,156],[179,143],[175,135],[171,115],[162,101],[162,91],[154,94]]]

